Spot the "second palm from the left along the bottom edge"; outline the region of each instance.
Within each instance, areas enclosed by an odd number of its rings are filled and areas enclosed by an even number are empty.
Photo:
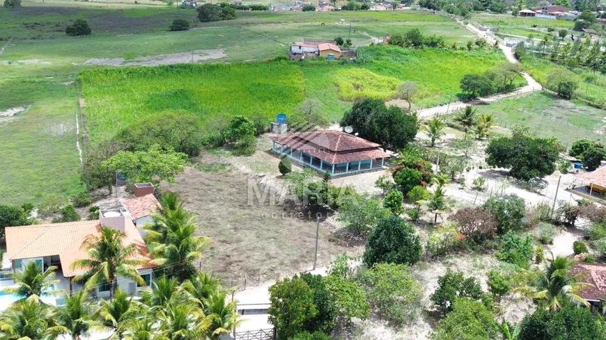
[[[70,334],[73,340],[80,340],[82,336],[87,335],[95,325],[93,316],[96,312],[93,305],[86,301],[87,299],[88,293],[85,289],[80,289],[72,296],[65,295],[65,307],[55,309],[54,318],[57,325],[51,330]]]

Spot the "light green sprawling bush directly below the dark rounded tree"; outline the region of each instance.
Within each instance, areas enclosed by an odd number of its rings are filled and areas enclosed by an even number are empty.
[[[396,325],[413,321],[423,291],[402,264],[375,264],[360,274],[373,309]]]

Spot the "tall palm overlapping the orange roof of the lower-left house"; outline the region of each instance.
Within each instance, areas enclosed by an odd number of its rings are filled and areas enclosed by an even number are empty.
[[[137,266],[146,264],[147,261],[134,257],[139,248],[133,243],[125,245],[125,237],[126,234],[111,227],[101,227],[98,235],[88,235],[82,243],[82,247],[86,247],[88,259],[79,259],[72,264],[72,269],[80,268],[84,272],[76,275],[73,280],[86,282],[86,289],[109,284],[110,298],[116,292],[118,274],[145,285]]]

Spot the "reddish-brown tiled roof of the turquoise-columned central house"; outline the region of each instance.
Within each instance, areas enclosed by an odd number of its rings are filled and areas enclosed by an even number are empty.
[[[332,164],[389,158],[379,148],[381,145],[342,131],[298,132],[269,138]]]

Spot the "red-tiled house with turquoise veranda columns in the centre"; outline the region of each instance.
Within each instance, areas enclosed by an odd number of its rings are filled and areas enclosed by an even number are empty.
[[[277,154],[334,176],[382,169],[384,159],[389,159],[381,145],[342,131],[297,132],[269,138]]]

